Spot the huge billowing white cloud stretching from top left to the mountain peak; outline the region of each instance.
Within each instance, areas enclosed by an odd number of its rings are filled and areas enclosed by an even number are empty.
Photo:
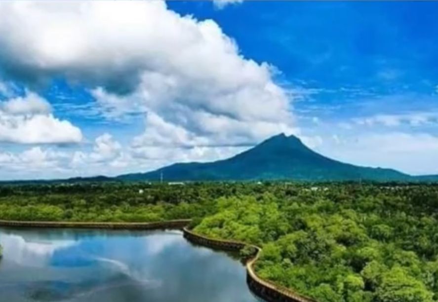
[[[80,82],[107,118],[146,113],[134,146],[242,145],[297,132],[272,66],[244,58],[214,21],[164,1],[2,2],[0,16],[9,75]]]

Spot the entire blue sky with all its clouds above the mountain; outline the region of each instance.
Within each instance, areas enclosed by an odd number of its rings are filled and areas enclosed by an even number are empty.
[[[0,179],[146,172],[272,135],[438,174],[438,2],[1,1]]]

